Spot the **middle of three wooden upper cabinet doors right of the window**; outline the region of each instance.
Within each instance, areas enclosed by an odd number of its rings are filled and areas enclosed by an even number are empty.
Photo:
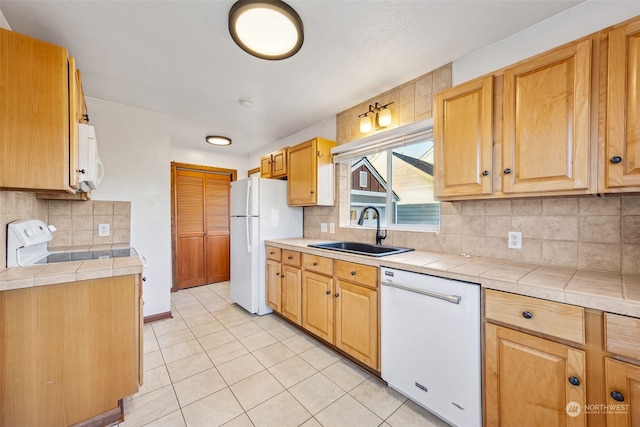
[[[589,189],[590,89],[591,40],[505,70],[505,193]]]

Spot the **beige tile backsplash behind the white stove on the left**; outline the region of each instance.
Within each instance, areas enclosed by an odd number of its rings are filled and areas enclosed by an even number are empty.
[[[41,200],[35,193],[0,191],[0,270],[6,268],[7,224],[40,219],[54,225],[50,247],[129,244],[131,202]],[[109,224],[109,236],[98,236],[98,224]]]

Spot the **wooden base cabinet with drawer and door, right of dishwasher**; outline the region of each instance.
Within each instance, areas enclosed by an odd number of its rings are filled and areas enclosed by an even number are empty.
[[[484,425],[585,426],[583,309],[485,290],[485,316]]]

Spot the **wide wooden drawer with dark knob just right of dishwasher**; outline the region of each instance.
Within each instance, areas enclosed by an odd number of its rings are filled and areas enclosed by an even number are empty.
[[[582,307],[487,289],[485,316],[488,320],[585,343]]]

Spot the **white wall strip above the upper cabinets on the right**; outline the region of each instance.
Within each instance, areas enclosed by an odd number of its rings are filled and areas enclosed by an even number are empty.
[[[457,84],[640,15],[640,1],[587,0],[491,46],[453,61]]]

